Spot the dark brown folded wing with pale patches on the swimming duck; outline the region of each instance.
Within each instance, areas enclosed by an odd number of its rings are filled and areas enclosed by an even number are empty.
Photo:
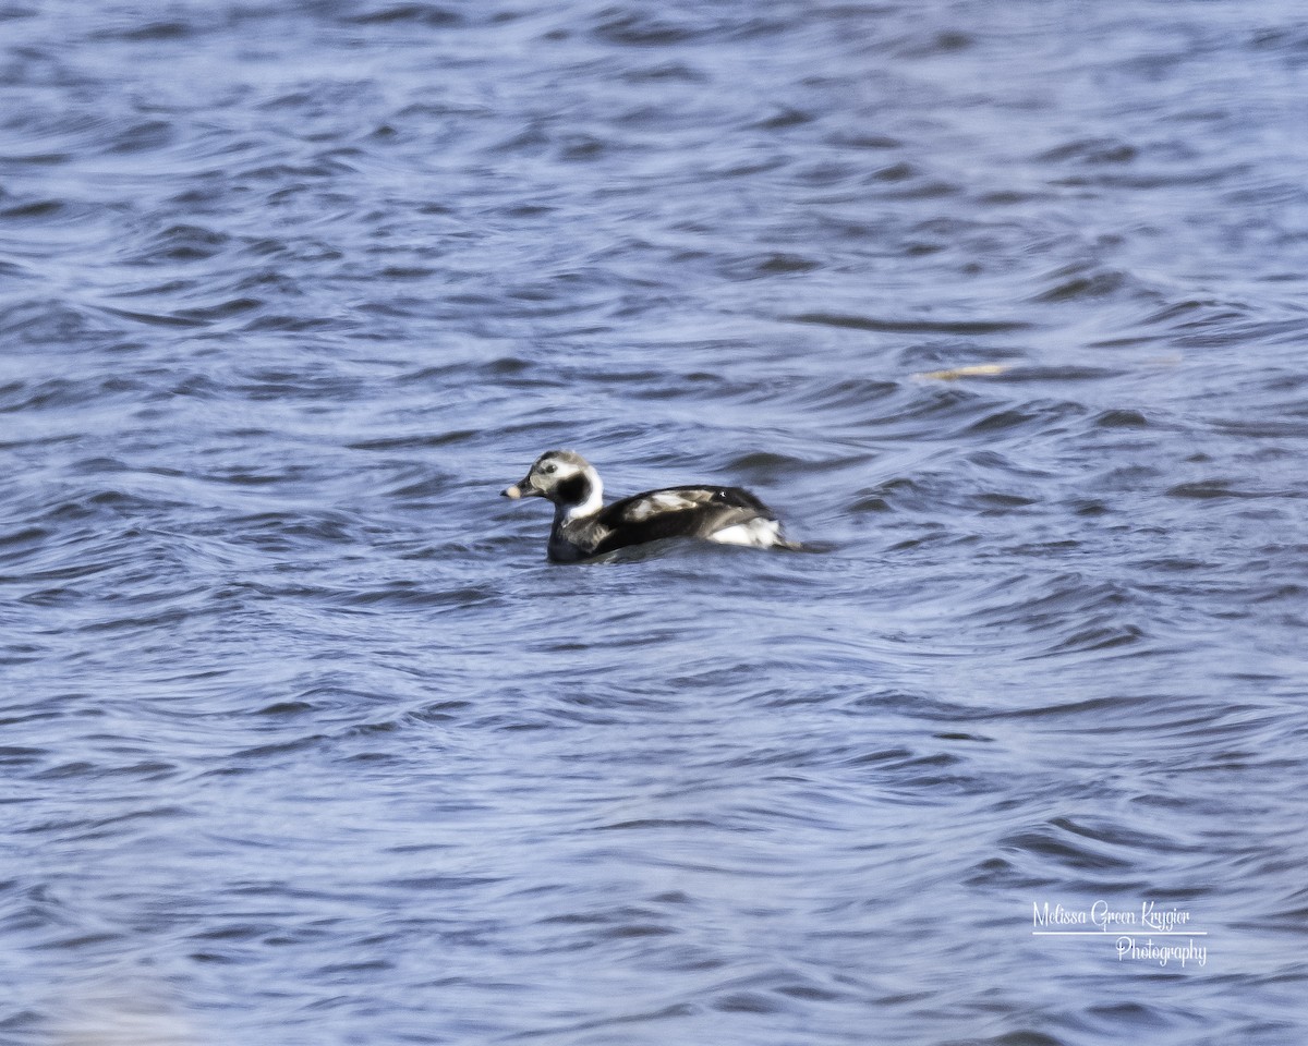
[[[663,537],[708,537],[751,519],[773,519],[772,510],[739,486],[670,486],[646,490],[604,509],[595,522],[608,533],[593,554]]]

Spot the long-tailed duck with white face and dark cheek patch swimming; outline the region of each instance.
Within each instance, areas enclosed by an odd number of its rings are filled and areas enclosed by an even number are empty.
[[[576,562],[663,537],[702,537],[730,545],[798,548],[781,533],[773,511],[739,486],[670,486],[604,507],[599,473],[579,454],[542,454],[506,498],[553,502],[549,558]]]

